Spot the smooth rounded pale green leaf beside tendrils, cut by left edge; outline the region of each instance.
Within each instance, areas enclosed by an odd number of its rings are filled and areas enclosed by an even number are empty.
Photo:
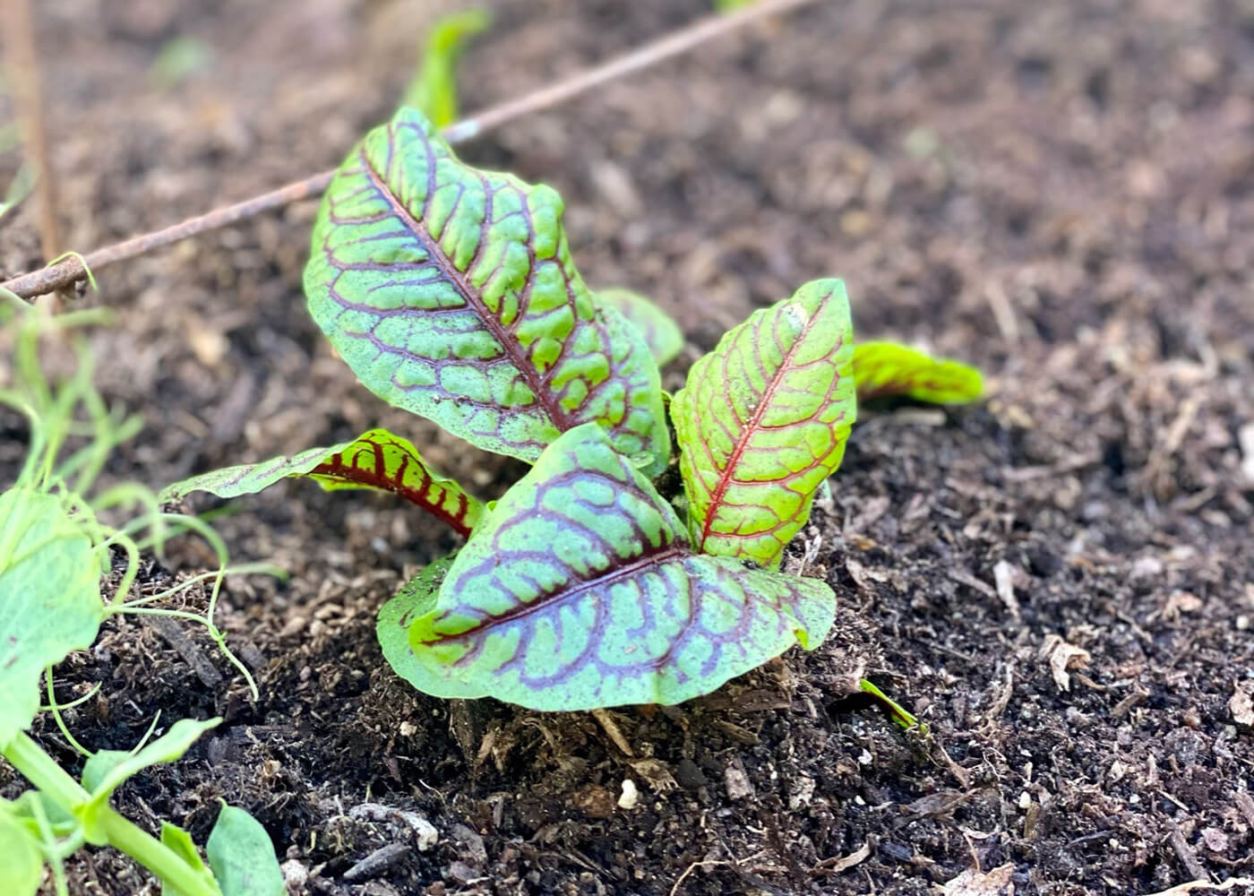
[[[99,577],[90,538],[56,497],[0,494],[0,749],[39,712],[44,669],[95,640]]]

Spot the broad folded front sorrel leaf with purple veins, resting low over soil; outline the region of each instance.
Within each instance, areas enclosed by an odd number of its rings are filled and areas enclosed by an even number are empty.
[[[683,525],[608,434],[562,435],[453,561],[408,589],[401,666],[436,696],[530,709],[680,703],[831,626],[823,582],[690,550]],[[395,615],[393,615],[395,614]],[[385,640],[393,639],[385,636]]]

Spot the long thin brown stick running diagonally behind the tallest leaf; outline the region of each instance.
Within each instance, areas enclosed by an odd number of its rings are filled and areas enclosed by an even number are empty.
[[[547,109],[558,103],[564,103],[594,87],[604,84],[616,78],[622,78],[633,72],[656,65],[657,63],[680,55],[693,46],[741,28],[751,21],[769,15],[785,13],[788,10],[813,4],[816,0],[759,0],[742,10],[730,15],[711,15],[673,34],[655,40],[626,55],[612,59],[604,65],[581,72],[572,78],[549,87],[540,88],[518,99],[507,100],[499,105],[484,109],[473,118],[456,122],[444,131],[445,138],[450,143],[460,143],[472,137],[499,127],[505,122],[514,120],[532,112]],[[85,257],[71,256],[55,265],[23,274],[21,276],[0,284],[0,289],[9,290],[15,295],[30,301],[45,292],[53,292],[68,286],[73,286],[87,276],[87,270],[99,271],[114,262],[144,255],[155,248],[169,246],[171,243],[187,240],[188,237],[204,233],[211,230],[226,227],[236,221],[253,217],[272,208],[282,208],[298,200],[319,196],[326,189],[334,171],[324,171],[314,177],[288,183],[286,187],[272,189],[268,193],[255,196],[251,200],[237,202],[211,212],[188,218],[182,223],[133,237],[125,242],[114,243],[89,252]],[[85,265],[85,267],[84,267]]]

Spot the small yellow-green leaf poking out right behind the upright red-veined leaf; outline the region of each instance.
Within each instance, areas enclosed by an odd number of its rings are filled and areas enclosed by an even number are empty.
[[[861,343],[854,351],[854,381],[860,402],[904,395],[915,402],[963,404],[984,390],[976,368],[897,343]]]

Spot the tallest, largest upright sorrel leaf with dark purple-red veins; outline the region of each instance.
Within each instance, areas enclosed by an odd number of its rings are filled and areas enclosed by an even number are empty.
[[[534,461],[596,420],[650,474],[668,461],[657,365],[574,270],[561,197],[461,164],[413,109],[331,182],[305,292],[362,384],[479,448]]]

